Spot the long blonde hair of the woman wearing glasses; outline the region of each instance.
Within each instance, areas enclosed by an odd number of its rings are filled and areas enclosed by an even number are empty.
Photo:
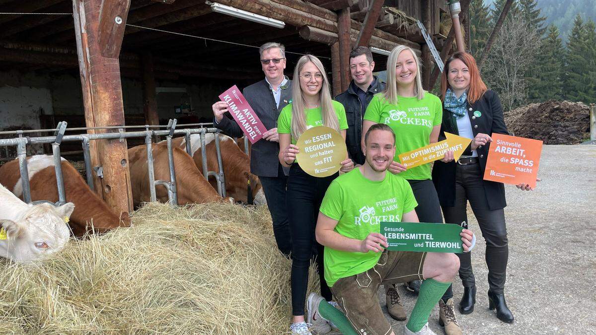
[[[302,95],[302,89],[300,88],[300,71],[306,63],[315,64],[316,68],[323,75],[323,81],[321,90],[319,91],[319,105],[321,106],[321,116],[323,119],[323,125],[339,131],[339,120],[337,120],[337,114],[331,103],[331,89],[329,86],[329,80],[327,79],[327,73],[323,64],[313,55],[303,55],[296,64],[294,69],[294,83],[292,85],[292,123],[291,123],[291,134],[293,138],[299,138],[303,132],[306,131],[306,101]]]

